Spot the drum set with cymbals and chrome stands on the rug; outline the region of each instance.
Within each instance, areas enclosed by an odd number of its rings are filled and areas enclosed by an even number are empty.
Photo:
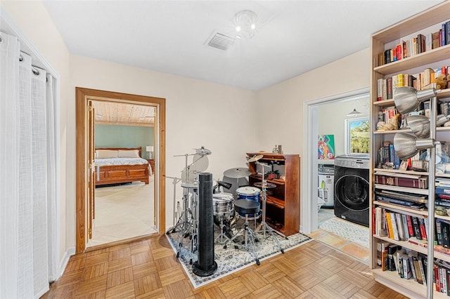
[[[167,234],[179,232],[179,249],[176,252],[176,257],[181,255],[181,248],[184,246],[184,239],[188,238],[188,249],[191,253],[195,253],[198,249],[198,173],[205,171],[204,165],[198,167],[198,162],[205,160],[205,156],[211,154],[210,150],[205,147],[195,149],[195,154],[184,154],[174,157],[185,157],[185,168],[183,173],[181,187],[183,187],[182,208],[178,205],[179,219],[176,225]],[[188,156],[194,156],[193,162],[188,164]],[[221,244],[227,248],[228,244],[232,243],[235,248],[244,248],[246,251],[251,251],[257,265],[259,259],[255,248],[255,241],[265,240],[266,234],[272,237],[278,246],[281,253],[284,253],[283,248],[274,236],[274,230],[266,223],[266,193],[267,189],[275,188],[276,185],[264,180],[264,167],[269,167],[266,164],[259,163],[262,155],[251,157],[249,162],[256,162],[262,165],[263,173],[261,182],[255,182],[253,186],[239,187],[236,189],[236,198],[232,193],[224,192],[224,189],[229,190],[232,186],[230,182],[217,181],[213,185],[212,194],[212,212],[214,215],[214,225],[219,228],[219,235],[214,239],[214,243]],[[207,159],[206,159],[207,160]],[[203,164],[204,161],[202,162]],[[203,169],[205,168],[205,169]],[[193,175],[192,175],[193,174]],[[237,183],[240,178],[245,178],[252,173],[248,168],[231,168],[224,171],[224,176],[236,179]],[[181,210],[180,210],[181,208]],[[261,218],[257,226],[257,219]],[[244,220],[243,227],[238,230],[238,220]],[[250,228],[250,220],[254,222],[254,229]],[[237,231],[236,233],[233,233]],[[258,237],[259,235],[262,236]],[[240,241],[238,237],[244,237],[244,241]],[[191,259],[191,264],[192,264]]]

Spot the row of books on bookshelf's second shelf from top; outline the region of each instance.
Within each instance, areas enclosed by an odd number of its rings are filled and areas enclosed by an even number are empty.
[[[417,74],[396,74],[392,77],[380,78],[377,80],[377,100],[392,99],[395,89],[402,86],[411,86],[418,91],[431,88],[437,77],[449,74],[449,67],[450,65],[436,69],[428,67]],[[445,89],[446,86],[440,86],[440,88]]]

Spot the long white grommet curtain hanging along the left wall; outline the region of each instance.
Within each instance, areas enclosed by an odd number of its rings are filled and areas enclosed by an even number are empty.
[[[0,47],[0,298],[39,298],[58,278],[54,81],[15,36]]]

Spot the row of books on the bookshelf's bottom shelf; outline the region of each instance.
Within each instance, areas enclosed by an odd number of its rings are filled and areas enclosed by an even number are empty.
[[[427,256],[397,244],[378,242],[377,265],[383,271],[397,272],[402,279],[413,279],[424,286],[430,281],[427,278]],[[450,296],[450,263],[434,260],[432,284],[437,292]]]

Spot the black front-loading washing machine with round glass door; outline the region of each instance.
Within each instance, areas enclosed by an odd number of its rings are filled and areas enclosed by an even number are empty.
[[[368,227],[369,157],[340,155],[335,158],[335,215]]]

